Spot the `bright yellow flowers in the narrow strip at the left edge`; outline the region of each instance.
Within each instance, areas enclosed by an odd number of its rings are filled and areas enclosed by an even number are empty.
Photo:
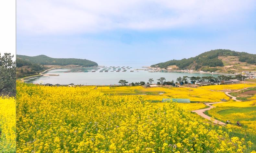
[[[15,153],[15,99],[0,97],[0,152]]]

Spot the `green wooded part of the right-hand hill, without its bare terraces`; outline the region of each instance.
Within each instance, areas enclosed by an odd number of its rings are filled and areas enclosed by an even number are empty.
[[[200,70],[206,67],[223,67],[225,63],[220,57],[238,57],[239,62],[246,62],[248,64],[256,64],[256,54],[250,54],[245,52],[235,52],[225,49],[211,50],[204,52],[200,55],[191,58],[184,58],[181,60],[170,60],[167,62],[161,62],[151,67],[167,68],[172,65],[176,65],[179,69],[195,69]],[[215,68],[213,71],[216,71]]]

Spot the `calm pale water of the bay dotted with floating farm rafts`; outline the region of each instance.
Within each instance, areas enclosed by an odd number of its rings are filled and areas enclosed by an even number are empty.
[[[116,72],[120,69],[120,72]],[[145,81],[148,82],[149,78],[153,78],[157,83],[157,79],[164,77],[166,81],[174,80],[182,76],[213,76],[217,74],[202,74],[202,73],[184,73],[184,72],[148,72],[145,70],[135,70],[137,68],[131,67],[98,67],[98,68],[80,68],[80,69],[54,69],[45,74],[59,74],[59,76],[41,76],[26,80],[28,83],[51,83],[51,84],[84,84],[84,85],[110,85],[119,84],[119,80],[126,80],[129,83]],[[145,69],[145,68],[138,68]],[[126,70],[126,72],[122,72]],[[92,72],[95,71],[95,72]],[[100,72],[102,71],[102,72]],[[108,72],[105,72],[108,71]],[[111,72],[113,71],[113,72]],[[134,71],[134,72],[130,72]],[[151,71],[151,70],[149,70]]]

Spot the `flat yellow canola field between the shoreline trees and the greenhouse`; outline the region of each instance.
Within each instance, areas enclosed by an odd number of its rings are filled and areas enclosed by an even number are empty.
[[[101,87],[98,87],[97,90],[101,91]],[[224,92],[209,91],[200,88],[143,88],[141,86],[102,87],[102,92],[106,94],[129,95],[130,97],[140,96],[145,100],[158,101],[161,101],[163,98],[185,98],[190,99],[190,101],[202,102],[216,102],[223,98],[229,100],[229,97],[227,97]]]

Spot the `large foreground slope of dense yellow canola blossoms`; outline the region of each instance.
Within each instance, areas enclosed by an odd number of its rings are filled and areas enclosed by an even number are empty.
[[[175,103],[17,82],[17,153],[250,152]]]

